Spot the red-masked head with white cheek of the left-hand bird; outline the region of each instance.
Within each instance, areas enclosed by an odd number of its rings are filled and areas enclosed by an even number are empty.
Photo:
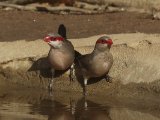
[[[44,37],[44,41],[53,48],[60,48],[64,40],[65,39],[61,35],[55,33],[48,34]]]

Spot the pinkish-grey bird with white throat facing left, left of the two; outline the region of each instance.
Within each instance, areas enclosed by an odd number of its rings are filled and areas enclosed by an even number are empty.
[[[52,79],[49,81],[49,90],[52,90],[55,70],[73,71],[75,51],[72,43],[58,33],[50,33],[44,37],[44,41],[50,46],[48,60],[51,65]],[[70,72],[71,74],[73,72]],[[72,77],[73,75],[70,75]],[[72,78],[70,78],[72,79]]]

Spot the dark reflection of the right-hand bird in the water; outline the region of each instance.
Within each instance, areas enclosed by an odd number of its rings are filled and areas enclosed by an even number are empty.
[[[108,106],[101,106],[85,98],[77,102],[76,120],[111,120]]]

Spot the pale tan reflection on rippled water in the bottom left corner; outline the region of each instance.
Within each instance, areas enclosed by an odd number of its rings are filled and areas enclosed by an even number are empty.
[[[0,104],[0,120],[45,120],[46,116],[32,114],[30,104],[6,103]]]

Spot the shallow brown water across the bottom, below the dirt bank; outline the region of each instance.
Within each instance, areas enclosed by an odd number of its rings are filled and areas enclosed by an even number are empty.
[[[157,101],[0,89],[0,120],[160,120]]]

